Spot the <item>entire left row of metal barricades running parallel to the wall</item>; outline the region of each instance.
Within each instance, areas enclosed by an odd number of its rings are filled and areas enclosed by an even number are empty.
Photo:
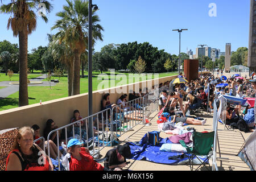
[[[62,140],[65,141],[66,145],[68,143],[68,138],[79,138],[80,141],[83,141],[86,144],[86,147],[90,151],[90,155],[94,156],[104,147],[112,146],[115,139],[125,134],[130,129],[133,129],[133,127],[141,123],[144,124],[145,119],[154,111],[158,110],[158,102],[159,89],[154,89],[143,97],[116,105],[112,109],[108,108],[80,119],[79,121],[52,130],[47,136],[48,156],[50,156],[49,140],[51,135],[56,133],[57,148],[60,148],[60,133],[63,130],[65,138],[62,138]],[[121,112],[120,108],[122,105],[130,108],[130,110],[123,110],[124,112]],[[92,119],[91,125],[89,123],[90,119]],[[121,121],[121,125],[118,125],[118,120]],[[93,130],[92,137],[90,138],[88,137],[89,125]],[[89,147],[89,145],[92,146]],[[98,149],[96,150],[96,148]],[[57,151],[57,160],[60,170],[60,150]]]

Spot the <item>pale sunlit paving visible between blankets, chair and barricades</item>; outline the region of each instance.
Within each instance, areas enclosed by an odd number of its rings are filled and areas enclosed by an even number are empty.
[[[151,114],[149,118],[152,125],[144,126],[137,125],[133,130],[128,131],[123,134],[118,139],[121,145],[126,142],[138,142],[148,131],[158,131],[158,111]],[[204,126],[201,125],[188,125],[194,127],[196,131],[213,131],[213,114],[204,112],[203,115],[199,115],[200,118],[207,118],[207,122]],[[187,126],[185,126],[187,127]],[[251,133],[243,133],[239,130],[224,130],[224,125],[218,123],[218,143],[217,143],[217,166],[219,171],[250,171],[250,168],[245,164],[238,156],[238,152],[242,147],[245,140],[250,136]],[[161,132],[160,137],[166,138],[170,137],[166,133]],[[102,158],[105,156],[106,152],[113,147],[105,147],[102,149],[100,154]],[[167,165],[159,164],[154,162],[148,162],[146,160],[128,160],[131,163],[127,166],[127,169],[132,171],[190,171],[190,167],[187,165]],[[210,167],[212,167],[212,159],[210,161]],[[104,166],[104,163],[101,163]],[[196,166],[194,166],[196,167]],[[124,168],[126,169],[126,168]],[[199,169],[200,171],[205,171],[204,167]]]

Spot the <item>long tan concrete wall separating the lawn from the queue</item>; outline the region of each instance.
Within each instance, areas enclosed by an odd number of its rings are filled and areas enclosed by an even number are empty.
[[[104,93],[110,93],[110,101],[116,103],[118,98],[123,94],[129,95],[129,90],[158,85],[161,82],[170,81],[176,76],[168,76],[154,80],[137,82],[135,84],[117,86],[115,88],[97,90],[93,92],[93,113],[100,111],[100,103]],[[138,88],[139,86],[139,88]],[[123,93],[120,91],[123,89]],[[117,93],[117,92],[119,93]],[[139,90],[138,90],[139,92]],[[28,105],[14,109],[0,111],[0,130],[10,129],[13,127],[32,126],[37,124],[41,128],[41,133],[48,119],[53,119],[56,125],[61,127],[67,125],[73,117],[73,111],[78,109],[82,117],[88,116],[88,94],[79,94],[77,96],[60,98],[57,100],[42,102],[40,104]]]

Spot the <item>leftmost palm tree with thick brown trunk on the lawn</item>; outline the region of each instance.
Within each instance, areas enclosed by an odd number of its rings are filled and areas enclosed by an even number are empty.
[[[1,0],[2,3],[2,0]],[[13,30],[15,37],[19,36],[19,106],[28,105],[27,91],[27,44],[28,35],[36,30],[37,16],[33,10],[40,10],[40,3],[44,3],[46,12],[52,10],[48,1],[41,0],[10,0],[10,3],[1,5],[1,13],[11,14],[7,29]],[[41,16],[47,23],[45,15]]]

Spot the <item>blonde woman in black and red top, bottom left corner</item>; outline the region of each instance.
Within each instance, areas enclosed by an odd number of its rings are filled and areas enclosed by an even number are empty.
[[[34,130],[31,127],[19,129],[13,150],[6,160],[6,171],[52,171],[51,159],[33,144]]]

